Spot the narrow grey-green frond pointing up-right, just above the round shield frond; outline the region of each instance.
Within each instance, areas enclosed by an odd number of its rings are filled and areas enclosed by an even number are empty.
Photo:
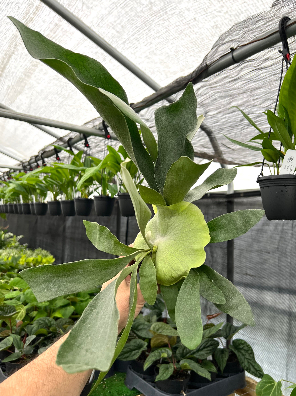
[[[185,195],[184,201],[193,202],[199,200],[207,191],[231,183],[236,177],[236,173],[237,169],[221,168],[215,170],[202,184],[190,190]]]

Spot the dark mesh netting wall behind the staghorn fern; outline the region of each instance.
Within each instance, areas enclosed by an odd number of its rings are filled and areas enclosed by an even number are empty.
[[[196,202],[206,221],[226,213],[224,198],[202,199]],[[261,209],[260,197],[236,198],[234,209]],[[88,241],[83,217],[44,217],[7,215],[9,231],[24,235],[23,243],[48,249],[57,263],[86,258],[112,257]],[[116,234],[116,208],[111,217],[87,217],[107,226]],[[126,242],[126,217],[121,217],[120,240]],[[135,217],[129,218],[127,243],[133,242],[139,228]],[[238,337],[249,342],[264,372],[276,379],[295,380],[296,347],[296,246],[293,221],[268,221],[265,217],[234,242],[234,283],[252,307],[256,326],[246,327]],[[206,264],[226,276],[226,242],[206,247]],[[203,300],[203,299],[202,299]],[[202,314],[217,312],[217,308],[202,301]],[[225,315],[216,321],[226,320]]]

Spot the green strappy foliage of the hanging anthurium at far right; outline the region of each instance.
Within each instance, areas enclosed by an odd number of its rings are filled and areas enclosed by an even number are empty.
[[[279,174],[279,166],[281,161],[287,152],[288,149],[295,150],[296,145],[296,113],[295,113],[295,105],[296,105],[296,59],[293,58],[293,61],[285,74],[285,78],[281,85],[281,89],[279,92],[279,105],[277,108],[277,114],[271,110],[267,110],[264,112],[267,116],[267,121],[272,128],[272,132],[270,135],[268,132],[262,131],[251,118],[245,114],[243,110],[236,107],[245,119],[257,130],[257,133],[254,137],[252,137],[248,142],[240,142],[230,137],[225,136],[230,142],[248,148],[254,151],[261,151],[262,156],[265,158],[266,162],[270,162],[273,166],[273,173]],[[280,142],[283,145],[283,148],[280,148]],[[253,144],[250,144],[253,143]],[[274,143],[276,143],[277,147],[275,147]],[[252,164],[248,164],[247,166],[253,166],[257,164],[261,164],[262,162],[255,162]],[[267,164],[269,167],[270,165]],[[243,165],[245,166],[245,165]],[[272,170],[270,169],[270,173]]]

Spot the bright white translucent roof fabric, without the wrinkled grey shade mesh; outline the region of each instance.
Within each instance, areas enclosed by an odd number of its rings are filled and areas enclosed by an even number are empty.
[[[60,3],[165,86],[195,69],[223,32],[268,10],[272,1],[60,0]],[[77,125],[98,116],[74,86],[28,54],[7,15],[72,51],[100,61],[126,89],[130,102],[140,101],[153,92],[41,1],[2,0],[0,103],[13,110]],[[261,29],[265,31],[264,25]],[[65,135],[64,130],[52,130]],[[26,160],[52,141],[51,136],[24,122],[0,118],[0,149],[14,156]],[[1,163],[15,165],[16,161],[0,154]]]

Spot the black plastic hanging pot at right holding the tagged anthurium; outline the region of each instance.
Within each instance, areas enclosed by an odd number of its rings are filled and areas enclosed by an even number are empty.
[[[296,220],[296,175],[262,176],[258,183],[268,220]]]

